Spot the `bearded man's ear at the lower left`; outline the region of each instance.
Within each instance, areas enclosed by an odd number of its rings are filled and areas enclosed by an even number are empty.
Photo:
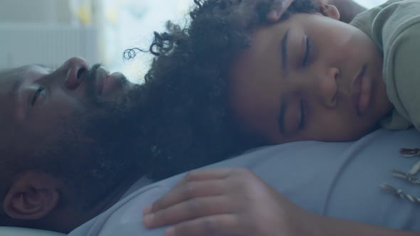
[[[38,171],[20,173],[11,183],[3,202],[4,211],[19,220],[38,220],[51,213],[60,200],[63,184]]]

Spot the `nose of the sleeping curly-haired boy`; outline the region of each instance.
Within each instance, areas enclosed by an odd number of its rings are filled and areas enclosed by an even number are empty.
[[[340,76],[340,70],[337,68],[328,68],[326,73],[318,75],[316,81],[316,92],[322,104],[328,108],[334,108],[337,104],[338,85],[337,79]],[[314,81],[314,82],[315,82]]]

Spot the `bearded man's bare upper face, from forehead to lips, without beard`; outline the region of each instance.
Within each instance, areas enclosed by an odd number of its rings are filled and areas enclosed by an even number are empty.
[[[104,104],[117,102],[131,86],[122,74],[109,75],[98,65],[90,69],[82,58],[57,70],[26,65],[0,71],[1,143],[36,147],[58,139],[63,127],[103,112]]]

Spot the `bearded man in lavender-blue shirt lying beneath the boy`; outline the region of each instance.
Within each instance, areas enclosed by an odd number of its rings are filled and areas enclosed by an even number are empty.
[[[168,193],[182,176],[148,184],[194,165],[219,161],[197,151],[201,159],[173,156],[185,161],[154,162],[153,157],[162,156],[159,150],[167,149],[152,145],[154,132],[141,134],[147,129],[137,122],[150,122],[149,118],[141,102],[129,100],[134,91],[146,90],[119,73],[108,75],[98,65],[89,68],[81,58],[71,58],[55,71],[39,65],[4,70],[1,82],[2,226],[70,232],[82,225],[70,235],[162,235],[164,228],[142,227],[142,208]],[[159,119],[152,107],[147,112]],[[159,127],[174,129],[159,122],[154,127],[157,134]],[[297,203],[297,212],[305,209],[420,230],[417,206],[378,187],[385,181],[418,193],[416,187],[393,179],[389,171],[408,169],[416,160],[401,161],[399,147],[418,146],[419,141],[414,130],[379,130],[355,142],[267,147],[211,167],[251,169]],[[146,174],[151,178],[143,178]]]

